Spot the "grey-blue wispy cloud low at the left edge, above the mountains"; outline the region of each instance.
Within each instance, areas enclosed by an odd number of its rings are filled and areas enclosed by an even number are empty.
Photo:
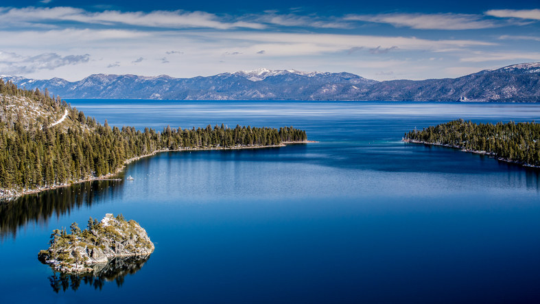
[[[43,53],[36,56],[22,56],[0,51],[0,72],[13,75],[34,73],[43,69],[54,70],[66,65],[78,65],[89,60],[89,54],[61,56],[56,53]]]

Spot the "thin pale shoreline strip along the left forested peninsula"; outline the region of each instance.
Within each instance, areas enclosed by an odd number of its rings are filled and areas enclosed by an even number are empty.
[[[233,147],[211,147],[211,148],[195,147],[195,148],[180,148],[180,149],[173,149],[173,150],[170,150],[170,149],[155,150],[154,152],[151,152],[149,154],[144,154],[144,155],[141,155],[141,156],[132,157],[131,159],[126,159],[126,161],[124,161],[124,164],[121,165],[121,167],[119,167],[115,172],[105,174],[105,175],[102,175],[102,176],[93,176],[93,177],[90,177],[90,178],[84,178],[82,180],[75,180],[75,181],[73,181],[71,183],[67,183],[67,184],[61,184],[61,185],[54,185],[54,186],[50,186],[50,187],[37,188],[37,189],[32,189],[32,190],[27,190],[27,191],[22,191],[22,192],[17,192],[17,191],[15,191],[13,189],[1,189],[1,191],[0,191],[0,204],[3,203],[3,202],[9,202],[11,200],[14,200],[16,198],[20,198],[21,196],[25,196],[25,195],[28,195],[28,194],[38,194],[38,193],[43,192],[43,191],[65,188],[65,187],[69,187],[71,185],[91,182],[91,181],[94,181],[94,180],[119,180],[119,178],[111,178],[111,177],[113,177],[113,176],[119,174],[120,172],[124,171],[124,169],[126,169],[126,165],[128,165],[128,164],[130,164],[130,163],[132,163],[134,161],[139,161],[139,159],[143,159],[143,158],[149,157],[149,156],[154,156],[154,155],[156,155],[158,153],[162,153],[162,152],[281,148],[281,147],[285,147],[286,145],[293,145],[293,144],[298,144],[298,143],[318,143],[318,141],[283,141],[279,145],[239,145],[239,146],[233,146]],[[8,194],[5,194],[6,192]],[[14,192],[14,194],[13,194],[13,192]]]

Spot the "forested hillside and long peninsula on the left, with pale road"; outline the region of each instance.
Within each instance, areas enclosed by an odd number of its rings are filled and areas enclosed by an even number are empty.
[[[49,92],[20,89],[0,79],[0,198],[104,178],[126,163],[161,151],[234,149],[305,142],[291,127],[170,128],[163,132],[124,126],[72,108]]]

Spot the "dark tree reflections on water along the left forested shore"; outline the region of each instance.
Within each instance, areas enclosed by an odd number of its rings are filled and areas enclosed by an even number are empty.
[[[17,231],[29,222],[47,224],[54,214],[64,215],[113,198],[122,183],[122,180],[95,180],[0,202],[0,241],[9,235],[15,238]]]

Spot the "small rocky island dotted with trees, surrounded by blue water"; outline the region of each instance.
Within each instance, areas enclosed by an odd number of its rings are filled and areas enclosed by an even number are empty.
[[[54,230],[47,250],[38,259],[55,271],[68,274],[97,272],[117,257],[148,257],[154,244],[134,220],[107,213],[101,222],[90,218],[81,230],[76,222],[71,233]]]

